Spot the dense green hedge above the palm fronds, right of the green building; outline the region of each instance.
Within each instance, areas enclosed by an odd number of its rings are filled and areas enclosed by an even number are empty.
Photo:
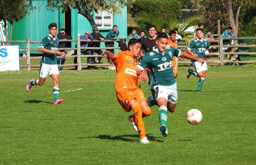
[[[180,3],[177,0],[135,0],[128,12],[132,17],[143,12],[148,13],[163,21],[170,13],[179,17],[180,9]]]

